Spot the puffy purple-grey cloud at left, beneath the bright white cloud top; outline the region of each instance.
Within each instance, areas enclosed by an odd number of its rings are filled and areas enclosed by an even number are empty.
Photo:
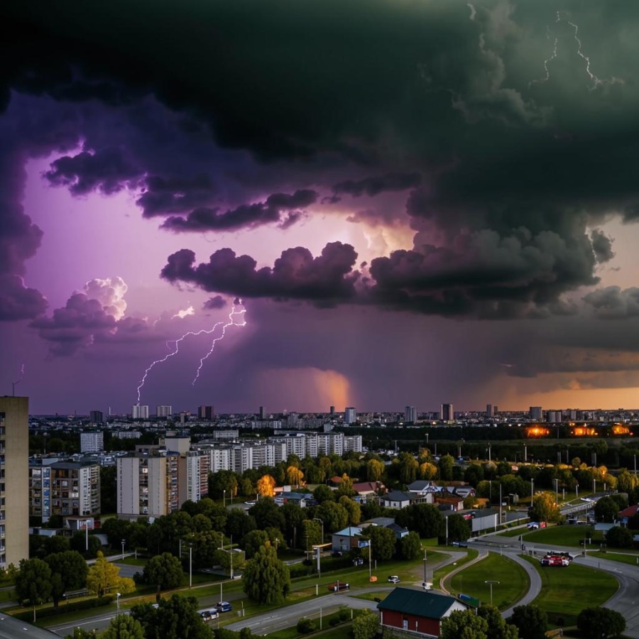
[[[116,324],[100,302],[75,293],[64,308],[53,311],[53,317],[39,317],[31,322],[31,327],[49,342],[51,355],[68,356],[93,344],[97,335],[114,332]]]

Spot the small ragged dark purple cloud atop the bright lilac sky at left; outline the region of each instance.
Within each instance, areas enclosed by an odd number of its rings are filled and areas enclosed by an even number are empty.
[[[73,195],[87,195],[96,190],[113,195],[125,187],[135,188],[133,182],[139,177],[141,170],[131,163],[122,148],[66,155],[53,160],[51,169],[45,172],[45,178],[53,185],[66,186]]]

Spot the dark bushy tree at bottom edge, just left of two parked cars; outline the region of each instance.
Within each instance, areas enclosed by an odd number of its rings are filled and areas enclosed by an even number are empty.
[[[212,639],[212,630],[197,612],[195,597],[174,594],[160,599],[158,608],[141,603],[131,608],[131,617],[142,624],[146,639]]]

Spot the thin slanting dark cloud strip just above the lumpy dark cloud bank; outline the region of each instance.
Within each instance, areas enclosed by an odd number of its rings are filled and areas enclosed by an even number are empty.
[[[300,218],[299,214],[283,214],[290,209],[304,209],[317,201],[317,192],[304,189],[293,195],[274,193],[266,202],[243,204],[236,209],[220,212],[219,209],[201,208],[190,212],[187,217],[169,217],[160,228],[182,233],[187,231],[233,231],[254,229],[263,224],[280,222],[288,228]]]

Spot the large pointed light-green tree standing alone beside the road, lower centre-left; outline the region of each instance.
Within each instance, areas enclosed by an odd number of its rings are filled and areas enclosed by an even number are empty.
[[[283,603],[290,590],[290,572],[270,543],[260,546],[253,559],[246,562],[242,586],[258,603]]]

